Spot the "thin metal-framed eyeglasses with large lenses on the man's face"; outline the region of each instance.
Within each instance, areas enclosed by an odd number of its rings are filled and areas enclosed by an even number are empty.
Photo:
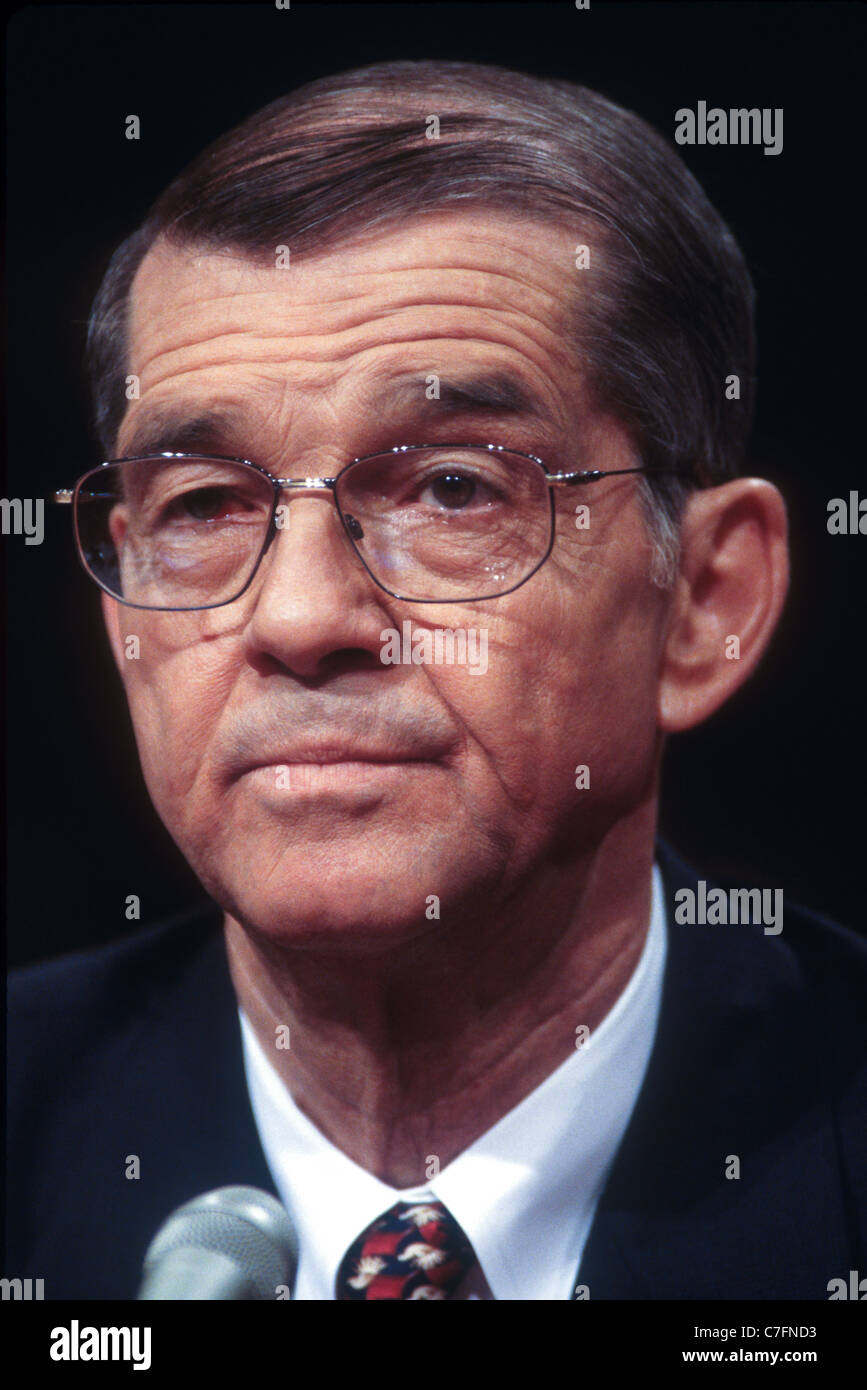
[[[88,574],[131,607],[235,602],[288,524],[282,495],[296,491],[332,493],[352,548],[392,598],[460,603],[511,594],[545,564],[554,488],[647,471],[549,473],[535,455],[493,443],[400,445],[353,459],[333,478],[274,478],[246,459],[160,453],[101,463],[53,500],[72,505]]]

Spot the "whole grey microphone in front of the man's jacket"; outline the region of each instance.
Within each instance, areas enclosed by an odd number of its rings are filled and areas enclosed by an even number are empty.
[[[272,1300],[292,1287],[297,1234],[275,1197],[218,1187],[178,1207],[147,1247],[140,1300]]]

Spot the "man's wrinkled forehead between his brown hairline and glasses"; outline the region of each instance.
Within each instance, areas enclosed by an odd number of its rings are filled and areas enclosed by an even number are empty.
[[[563,430],[586,410],[578,240],[546,221],[464,213],[256,260],[158,242],[131,295],[140,398],[121,438],[178,410],[289,427],[300,413],[333,424],[345,406],[422,402]]]

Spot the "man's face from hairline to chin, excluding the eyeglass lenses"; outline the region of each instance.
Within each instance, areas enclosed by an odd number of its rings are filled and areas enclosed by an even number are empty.
[[[117,455],[147,438],[153,452],[303,478],[439,439],[509,445],[550,471],[628,467],[629,441],[593,414],[568,346],[586,274],[574,247],[574,232],[479,213],[279,270],[157,246],[133,286],[140,399]],[[432,374],[470,396],[509,375],[534,409],[428,399]],[[190,436],[185,423],[206,411],[222,424]],[[170,414],[176,428],[154,443]],[[443,930],[457,909],[496,915],[647,798],[667,603],[647,578],[634,478],[557,489],[549,560],[475,603],[390,598],[329,493],[281,500],[289,524],[233,603],[156,613],[106,600],[150,794],[232,916],[302,947],[386,948]],[[407,619],[413,631],[485,630],[484,674],[383,664],[381,634]],[[125,657],[132,634],[138,659]]]

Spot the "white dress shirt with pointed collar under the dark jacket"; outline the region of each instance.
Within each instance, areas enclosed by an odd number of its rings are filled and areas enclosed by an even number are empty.
[[[599,1027],[442,1172],[411,1188],[379,1182],[325,1138],[297,1108],[239,1011],[253,1115],[299,1233],[292,1297],[333,1300],[340,1261],[364,1227],[395,1202],[434,1198],[447,1207],[478,1255],[457,1298],[571,1298],[596,1204],[650,1058],[664,965],[666,909],[654,866],[642,955]]]

